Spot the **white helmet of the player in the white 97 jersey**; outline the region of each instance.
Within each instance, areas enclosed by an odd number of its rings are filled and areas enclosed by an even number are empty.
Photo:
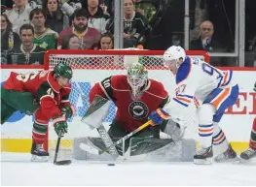
[[[183,62],[186,57],[186,52],[182,47],[168,47],[165,50],[164,54],[164,65],[166,65],[166,62],[175,62],[177,68],[179,67],[179,59],[182,58]]]

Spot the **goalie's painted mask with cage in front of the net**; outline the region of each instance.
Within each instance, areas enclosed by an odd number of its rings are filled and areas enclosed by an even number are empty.
[[[148,71],[143,65],[135,63],[128,67],[128,84],[133,96],[137,96],[143,90],[147,81]]]

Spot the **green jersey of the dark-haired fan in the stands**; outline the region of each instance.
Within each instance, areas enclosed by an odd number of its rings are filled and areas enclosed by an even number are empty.
[[[58,34],[55,31],[48,28],[41,35],[35,33],[34,44],[36,44],[39,47],[45,48],[46,50],[53,49],[56,48],[57,37]]]

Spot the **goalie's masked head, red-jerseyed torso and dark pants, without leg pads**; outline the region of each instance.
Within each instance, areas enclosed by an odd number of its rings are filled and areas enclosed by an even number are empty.
[[[112,76],[94,84],[90,102],[95,95],[113,101],[117,107],[117,114],[108,131],[112,140],[128,135],[148,121],[149,113],[163,108],[168,102],[164,85],[148,78],[147,70],[139,63],[128,67],[128,76]],[[149,126],[134,136],[159,139],[161,129],[161,126]]]

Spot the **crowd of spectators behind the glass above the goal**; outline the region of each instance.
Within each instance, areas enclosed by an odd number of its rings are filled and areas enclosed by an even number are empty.
[[[255,4],[253,0],[249,0]],[[245,4],[245,66],[256,66],[256,21]],[[190,1],[190,50],[234,52],[235,0]],[[43,64],[49,49],[112,49],[114,0],[3,0],[1,64]],[[184,44],[184,1],[124,0],[124,47]],[[211,57],[238,66],[236,57]]]

